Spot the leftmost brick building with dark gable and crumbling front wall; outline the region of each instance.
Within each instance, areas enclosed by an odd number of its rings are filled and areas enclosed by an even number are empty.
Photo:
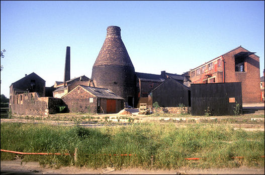
[[[59,112],[65,104],[61,99],[47,97],[53,88],[45,87],[45,80],[31,73],[10,86],[9,109],[13,115],[47,116]],[[47,95],[46,95],[47,93]]]

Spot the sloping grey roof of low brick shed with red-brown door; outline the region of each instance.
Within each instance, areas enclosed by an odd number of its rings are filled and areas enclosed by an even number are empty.
[[[116,94],[114,94],[112,91],[108,89],[95,88],[95,87],[86,86],[86,85],[79,85],[79,86],[81,86],[83,89],[89,91],[91,94],[99,98],[124,100],[122,97],[117,96]]]

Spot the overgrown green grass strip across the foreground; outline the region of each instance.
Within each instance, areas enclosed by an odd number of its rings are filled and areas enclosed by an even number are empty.
[[[140,168],[220,168],[264,166],[264,132],[234,130],[229,125],[136,123],[128,126],[82,128],[45,124],[1,124],[1,149],[21,152],[74,153],[77,166]],[[111,155],[109,155],[111,154]],[[132,154],[114,156],[113,154]],[[19,155],[53,167],[73,165],[69,155]],[[243,156],[235,160],[232,156]],[[14,153],[1,152],[1,160]],[[202,157],[186,160],[187,157]]]

